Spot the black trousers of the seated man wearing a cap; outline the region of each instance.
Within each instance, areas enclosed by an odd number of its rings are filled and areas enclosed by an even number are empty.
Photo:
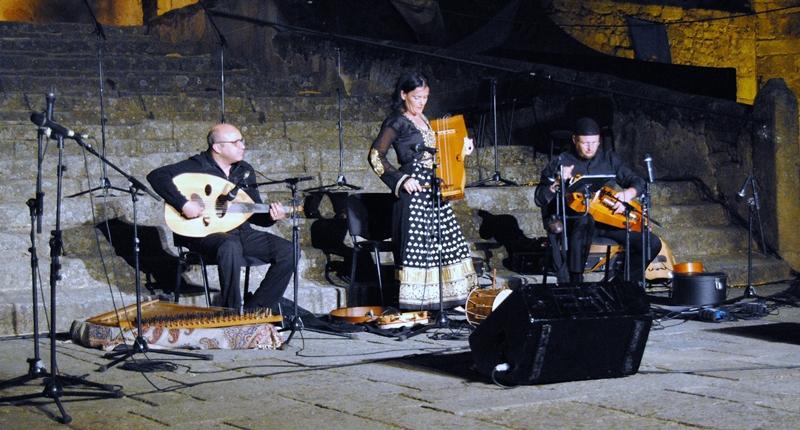
[[[561,252],[561,235],[549,235],[550,243],[557,244],[557,246],[553,246],[553,266],[560,283],[569,282],[570,275],[575,279],[577,275],[583,273],[586,268],[586,260],[589,258],[589,249],[595,238],[605,237],[625,246],[624,229],[595,223],[591,216],[568,219],[567,234],[569,249],[566,253]],[[630,232],[630,249],[625,250],[630,255],[630,279],[632,282],[642,280],[642,235],[643,233]],[[645,266],[649,265],[660,251],[661,240],[658,236],[651,234],[650,259]]]

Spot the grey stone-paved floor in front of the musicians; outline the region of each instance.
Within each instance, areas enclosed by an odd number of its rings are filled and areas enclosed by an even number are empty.
[[[41,347],[49,369],[49,342]],[[0,380],[25,373],[32,349],[30,339],[0,341]],[[125,393],[65,397],[69,428],[800,428],[800,309],[789,306],[759,320],[656,321],[633,376],[516,388],[475,373],[465,339],[303,331],[283,351],[212,352],[212,361],[171,360],[174,371],[98,373],[101,351],[59,343],[63,373]],[[0,394],[40,391],[36,381]],[[2,404],[0,428],[59,428],[57,413],[50,399]]]

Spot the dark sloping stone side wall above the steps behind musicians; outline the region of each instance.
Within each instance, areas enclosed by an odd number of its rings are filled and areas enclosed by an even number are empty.
[[[586,8],[600,3],[589,2]],[[279,19],[273,9],[264,5],[230,2],[228,6],[232,13],[267,21]],[[152,30],[170,40],[191,41],[194,38],[199,45],[213,49],[207,20],[199,18],[202,11],[195,8],[193,12],[191,9],[179,12],[159,18]],[[606,10],[606,13],[615,12]],[[668,16],[679,20],[682,15]],[[661,178],[700,181],[712,198],[728,204],[740,217],[746,217],[746,210],[737,203],[735,196],[751,170],[754,133],[763,121],[754,119],[751,109],[741,104],[601,74],[482,57],[451,61],[444,58],[447,54],[441,55],[441,51],[429,55],[420,47],[386,44],[376,48],[368,41],[279,33],[269,26],[229,18],[217,21],[223,33],[234,35],[236,41],[229,47],[230,61],[252,61],[255,67],[263,70],[267,82],[265,94],[286,97],[289,103],[299,100],[296,98],[299,95],[335,96],[335,89],[341,84],[346,97],[346,118],[379,121],[386,113],[388,94],[400,71],[419,69],[432,81],[429,115],[473,110],[467,115],[474,126],[479,118],[475,112],[486,113],[488,107],[488,100],[483,98],[485,82],[482,78],[492,76],[499,82],[498,140],[501,145],[534,146],[546,151],[550,132],[568,129],[578,112],[605,116],[601,122],[609,126],[607,140],[613,140],[617,151],[640,173],[645,173],[642,159],[645,154],[651,154]],[[337,48],[341,50],[341,75],[336,73]],[[414,52],[414,49],[420,51]],[[702,51],[710,52],[711,48],[706,46]],[[481,63],[485,66],[480,66]],[[538,73],[530,76],[500,69],[537,69]],[[315,115],[313,110],[300,111],[303,115]],[[291,105],[278,114],[295,115]],[[330,116],[335,112],[327,110],[316,114]],[[513,124],[509,125],[512,116]],[[485,131],[492,132],[491,129]],[[529,177],[535,179],[535,174]]]

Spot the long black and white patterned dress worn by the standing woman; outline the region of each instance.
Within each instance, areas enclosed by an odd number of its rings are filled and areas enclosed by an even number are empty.
[[[434,132],[427,119],[425,123],[427,127],[420,129],[403,114],[390,116],[383,122],[369,153],[373,171],[398,196],[393,214],[394,261],[400,282],[399,304],[404,309],[436,308],[439,304],[439,234],[444,306],[464,305],[470,290],[477,285],[469,245],[450,203],[442,201],[437,216],[436,199],[428,191],[433,179],[433,156],[415,150],[419,143],[435,147]],[[399,169],[386,159],[392,147]],[[402,185],[409,178],[415,178],[425,191],[405,192]]]

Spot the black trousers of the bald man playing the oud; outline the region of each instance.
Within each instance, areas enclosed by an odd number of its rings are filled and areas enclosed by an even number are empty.
[[[270,307],[286,291],[292,278],[292,243],[274,234],[238,228],[227,233],[215,233],[195,241],[189,248],[211,257],[217,263],[222,294],[221,306],[238,310],[242,305],[239,287],[241,268],[247,265],[246,257],[269,263],[267,275],[261,281],[247,308]]]

